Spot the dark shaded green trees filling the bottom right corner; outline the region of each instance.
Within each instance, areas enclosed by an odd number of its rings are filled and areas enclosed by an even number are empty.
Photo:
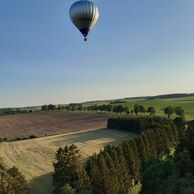
[[[150,159],[145,163],[141,194],[194,193],[194,127],[189,125],[182,134],[173,157]]]

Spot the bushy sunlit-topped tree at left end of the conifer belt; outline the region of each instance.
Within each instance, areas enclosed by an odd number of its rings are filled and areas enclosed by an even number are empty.
[[[56,163],[53,164],[55,170],[53,174],[54,193],[58,194],[66,184],[76,191],[90,188],[79,149],[75,145],[59,148],[55,157]]]

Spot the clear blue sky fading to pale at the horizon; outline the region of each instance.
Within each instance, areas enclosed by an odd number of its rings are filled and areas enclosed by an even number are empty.
[[[73,2],[0,1],[0,107],[194,92],[193,0],[93,0],[88,42]]]

